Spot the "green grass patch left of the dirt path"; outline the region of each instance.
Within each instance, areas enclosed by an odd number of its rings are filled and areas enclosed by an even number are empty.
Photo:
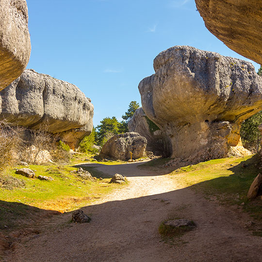
[[[122,186],[109,184],[110,179],[82,180],[75,173],[70,173],[77,169],[70,165],[30,165],[30,168],[35,170],[36,177],[42,175],[54,180],[29,179],[16,174],[15,169],[9,170],[7,176],[23,181],[25,185],[9,189],[0,187],[0,230],[27,224],[39,213],[43,215],[43,211],[48,215],[54,214],[54,211],[64,213],[79,209]]]

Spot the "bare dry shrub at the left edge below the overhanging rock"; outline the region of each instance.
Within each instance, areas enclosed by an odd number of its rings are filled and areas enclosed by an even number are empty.
[[[0,120],[0,172],[16,161],[16,156],[23,145],[23,140],[19,136],[22,131],[23,128]]]

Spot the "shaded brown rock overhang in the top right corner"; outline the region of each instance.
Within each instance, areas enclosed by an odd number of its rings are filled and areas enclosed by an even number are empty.
[[[230,49],[262,64],[262,2],[196,0],[206,28]]]

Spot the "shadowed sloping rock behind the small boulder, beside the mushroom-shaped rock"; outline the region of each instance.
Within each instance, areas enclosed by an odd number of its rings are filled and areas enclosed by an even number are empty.
[[[128,122],[128,130],[139,133],[147,139],[147,151],[152,151],[155,155],[170,155],[165,133],[147,117],[142,107],[135,111]]]

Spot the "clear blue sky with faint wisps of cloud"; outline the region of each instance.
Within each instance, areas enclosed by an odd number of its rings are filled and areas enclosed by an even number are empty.
[[[247,60],[210,33],[194,0],[27,0],[27,68],[77,85],[95,106],[94,126],[140,102],[153,59],[176,45]],[[249,60],[247,60],[249,61]],[[260,67],[252,62],[256,70]]]

